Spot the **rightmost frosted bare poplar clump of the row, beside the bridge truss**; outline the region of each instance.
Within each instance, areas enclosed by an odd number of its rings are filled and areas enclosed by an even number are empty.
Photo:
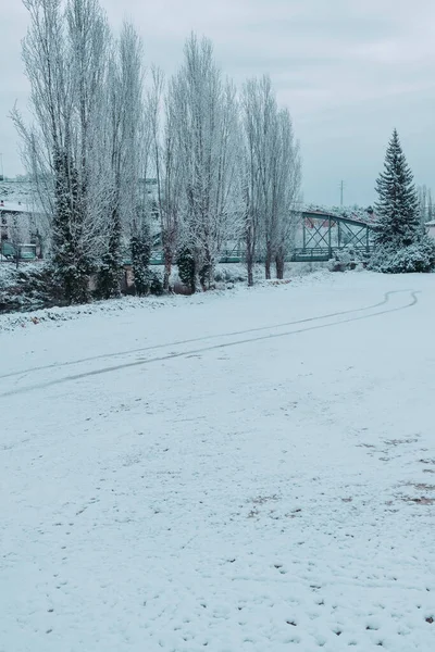
[[[278,110],[269,76],[245,84],[243,125],[246,259],[252,285],[258,249],[264,256],[266,278],[271,278],[274,260],[277,276],[284,274],[296,224],[300,156],[290,115]]]

